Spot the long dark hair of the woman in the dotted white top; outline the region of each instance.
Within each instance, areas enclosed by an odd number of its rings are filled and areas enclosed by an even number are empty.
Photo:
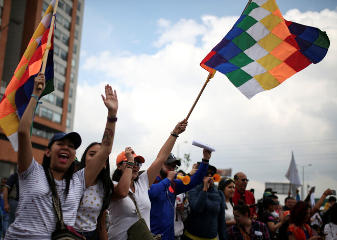
[[[100,145],[101,143],[99,142],[93,142],[91,143],[84,151],[82,158],[81,158],[81,163],[79,166],[79,170],[81,170],[82,168],[85,168],[85,156],[87,155],[89,149],[91,147],[93,147],[94,145]],[[104,198],[103,198],[103,206],[102,206],[102,210],[100,215],[102,214],[102,212],[107,209],[107,207],[109,206],[109,202],[110,202],[110,198],[111,198],[111,194],[113,192],[113,184],[112,181],[110,179],[110,164],[109,164],[109,157],[106,160],[107,166],[105,168],[103,168],[101,170],[101,172],[99,173],[99,175],[97,176],[97,179],[101,180],[103,183],[103,189],[104,189]],[[110,194],[107,194],[111,191]]]

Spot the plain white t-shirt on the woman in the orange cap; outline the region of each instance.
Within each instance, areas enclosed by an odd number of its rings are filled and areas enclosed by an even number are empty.
[[[113,184],[118,182],[113,181]],[[150,229],[150,209],[151,202],[149,199],[149,178],[148,172],[142,173],[138,180],[135,181],[135,193],[131,189],[129,192],[135,198],[141,217],[145,219],[148,228]],[[125,240],[128,238],[127,231],[132,224],[138,221],[135,205],[130,198],[110,201],[108,206],[110,226],[108,230],[109,240]]]

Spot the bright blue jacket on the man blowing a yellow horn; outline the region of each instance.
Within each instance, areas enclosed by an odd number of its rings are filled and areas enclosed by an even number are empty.
[[[157,176],[159,183],[152,184],[149,190],[151,201],[150,224],[153,234],[163,234],[162,240],[172,240],[174,237],[174,211],[176,195],[185,193],[202,182],[207,172],[208,164],[201,162],[198,171],[191,177],[189,184],[184,185],[181,180],[175,179],[177,193],[171,187],[171,181],[162,180]]]

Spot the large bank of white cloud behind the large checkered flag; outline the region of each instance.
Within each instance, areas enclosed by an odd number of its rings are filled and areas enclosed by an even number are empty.
[[[201,23],[193,19],[176,23],[159,19],[161,35],[154,41],[158,51],[153,55],[115,55],[109,51],[89,54],[89,49],[84,49],[88,54],[81,71],[99,78],[90,86],[78,85],[74,126],[84,140],[79,154],[103,136],[107,111],[100,94],[104,84],[109,83],[117,89],[119,98],[111,163],[131,146],[146,158],[145,168],[149,167],[175,124],[187,115],[206,80],[208,73],[199,63],[237,18],[205,15]],[[335,163],[337,155],[337,12],[301,13],[295,9],[284,18],[326,31],[330,49],[325,59],[251,100],[225,75],[216,73],[192,112],[186,132],[177,140],[180,156],[190,152],[194,162],[202,158],[202,149],[190,145],[193,139],[214,146],[211,164],[232,168],[233,173],[245,172],[252,180],[251,187],[259,188],[259,195],[263,182],[285,179],[292,150],[298,164],[316,164],[318,172],[309,181],[315,179],[320,188],[326,189],[324,169],[336,170],[327,164],[331,159]],[[322,145],[326,140],[331,140],[330,144]],[[184,141],[188,144],[182,144]],[[173,153],[177,152],[177,144]],[[336,181],[335,175],[330,177]]]

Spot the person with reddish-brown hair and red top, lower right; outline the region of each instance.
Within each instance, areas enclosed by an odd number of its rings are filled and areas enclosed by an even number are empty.
[[[312,230],[306,224],[311,215],[311,207],[307,202],[299,201],[290,210],[290,221],[292,224],[287,229],[289,240],[314,240],[323,239],[319,236],[313,236]]]

